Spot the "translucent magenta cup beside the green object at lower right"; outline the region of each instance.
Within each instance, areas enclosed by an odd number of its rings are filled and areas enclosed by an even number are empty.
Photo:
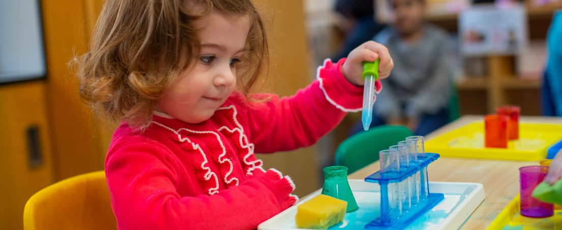
[[[540,165],[519,168],[521,215],[533,218],[544,218],[554,215],[554,205],[543,203],[532,196],[534,188],[545,179],[547,171],[548,167]]]

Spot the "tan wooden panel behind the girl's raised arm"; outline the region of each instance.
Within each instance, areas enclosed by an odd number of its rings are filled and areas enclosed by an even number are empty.
[[[293,95],[310,84],[302,0],[256,0],[265,16],[270,44],[270,71],[266,89],[279,95]],[[318,146],[286,153],[260,154],[265,168],[276,168],[293,178],[295,194],[303,196],[318,189],[316,153]]]

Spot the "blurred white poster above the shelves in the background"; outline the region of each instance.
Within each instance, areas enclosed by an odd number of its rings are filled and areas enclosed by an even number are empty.
[[[522,6],[474,6],[459,16],[461,52],[465,56],[519,54],[528,43],[527,15]]]

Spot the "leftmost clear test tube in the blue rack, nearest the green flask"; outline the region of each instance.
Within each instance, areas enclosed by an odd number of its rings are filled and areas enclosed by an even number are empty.
[[[379,151],[380,172],[398,173],[400,172],[400,153],[394,149]],[[402,215],[402,203],[400,201],[400,186],[398,183],[388,183],[388,203],[389,213],[392,216]]]

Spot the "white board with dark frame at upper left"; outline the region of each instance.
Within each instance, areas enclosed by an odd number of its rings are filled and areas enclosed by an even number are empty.
[[[39,0],[0,0],[0,84],[45,74]]]

